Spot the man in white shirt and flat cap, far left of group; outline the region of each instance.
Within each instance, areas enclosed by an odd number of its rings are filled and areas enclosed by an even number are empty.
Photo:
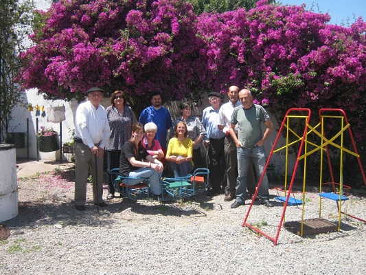
[[[103,201],[103,155],[109,129],[106,111],[100,102],[103,89],[93,87],[87,91],[88,99],[76,109],[75,115],[75,208],[85,210],[89,168],[93,179],[93,202],[101,207]],[[96,156],[96,157],[95,157]],[[96,161],[95,161],[96,160]],[[98,175],[98,179],[96,177]],[[98,184],[97,184],[98,181]],[[98,187],[98,190],[97,190]]]

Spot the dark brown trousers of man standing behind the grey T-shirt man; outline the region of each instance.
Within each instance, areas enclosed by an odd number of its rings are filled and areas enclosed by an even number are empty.
[[[227,187],[226,189],[231,192],[231,194],[236,194],[236,184],[238,179],[238,159],[236,152],[236,144],[233,142],[231,135],[225,137],[225,160],[226,160],[226,177],[227,177]],[[247,175],[247,189],[249,194],[255,192],[255,177],[253,170],[253,163],[249,165],[248,175]]]

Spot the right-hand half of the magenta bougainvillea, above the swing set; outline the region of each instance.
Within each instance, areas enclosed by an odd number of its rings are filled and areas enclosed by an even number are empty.
[[[249,87],[275,113],[291,107],[344,109],[358,140],[366,139],[366,23],[330,25],[304,6],[267,5],[201,14],[198,35],[206,86]]]

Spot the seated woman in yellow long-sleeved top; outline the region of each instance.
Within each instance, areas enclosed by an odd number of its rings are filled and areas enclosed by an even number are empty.
[[[174,177],[185,177],[193,166],[193,142],[187,137],[187,124],[185,122],[178,122],[174,131],[175,137],[169,141],[165,159],[174,170]]]

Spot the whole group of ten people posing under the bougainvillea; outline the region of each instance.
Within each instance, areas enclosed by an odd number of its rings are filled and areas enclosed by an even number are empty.
[[[87,91],[89,100],[76,110],[75,119],[75,207],[85,210],[89,167],[93,181],[93,203],[105,207],[102,198],[103,158],[106,151],[107,170],[119,168],[126,185],[135,185],[148,178],[152,195],[161,196],[161,176],[165,162],[174,177],[183,177],[202,167],[201,144],[209,156],[210,186],[208,196],[225,192],[225,201],[235,201],[231,208],[245,204],[247,194],[255,193],[255,177],[262,175],[266,164],[263,143],[273,125],[268,113],[253,104],[251,92],[232,86],[229,102],[222,104],[222,94],[209,93],[210,107],[200,121],[192,115],[192,104],[183,102],[181,116],[172,122],[168,109],[162,106],[160,94],[151,98],[152,105],[135,117],[124,91],[115,91],[111,106],[100,104],[103,89]],[[262,133],[261,122],[266,126]],[[169,137],[169,142],[167,142]],[[168,146],[167,146],[168,143]],[[136,177],[140,179],[136,179]],[[113,178],[108,176],[107,199],[115,197]],[[258,190],[261,203],[271,207],[268,179],[264,174]]]

